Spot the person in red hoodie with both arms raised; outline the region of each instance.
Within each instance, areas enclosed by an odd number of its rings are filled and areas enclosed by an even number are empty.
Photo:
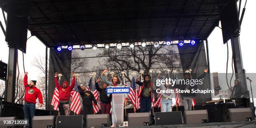
[[[59,73],[55,73],[55,85],[56,88],[59,90],[59,114],[60,115],[69,115],[70,114],[70,104],[69,104],[69,98],[70,98],[70,92],[74,88],[76,78],[74,76],[74,73],[71,73],[73,76],[73,80],[71,85],[69,86],[69,83],[67,81],[64,81],[61,85],[58,83],[58,76]]]

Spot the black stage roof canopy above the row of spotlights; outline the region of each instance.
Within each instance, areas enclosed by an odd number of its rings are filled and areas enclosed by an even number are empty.
[[[230,0],[0,0],[48,47],[206,39]]]

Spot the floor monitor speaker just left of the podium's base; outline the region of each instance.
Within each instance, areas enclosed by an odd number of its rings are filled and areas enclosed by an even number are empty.
[[[109,114],[89,114],[86,117],[87,127],[95,127],[95,126],[110,126],[110,118]]]

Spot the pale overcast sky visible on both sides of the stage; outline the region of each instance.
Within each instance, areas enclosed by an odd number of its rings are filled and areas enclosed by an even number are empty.
[[[242,6],[244,5],[245,0],[242,1]],[[256,62],[253,55],[253,51],[256,48],[256,43],[254,42],[253,37],[255,36],[255,21],[256,18],[254,13],[256,9],[256,0],[248,0],[246,5],[246,13],[243,18],[243,24],[241,26],[241,53],[243,57],[243,68],[246,69],[247,73],[256,73]],[[5,26],[3,15],[0,13],[0,21]],[[28,37],[30,32],[28,32]],[[5,42],[5,37],[0,31],[0,60],[5,63],[8,63],[8,45]],[[226,45],[223,45],[222,32],[221,29],[216,27],[215,30],[211,33],[208,38],[209,43],[209,56],[210,56],[210,70],[212,72],[225,73],[226,70],[226,59],[227,59],[227,48]],[[230,43],[229,43],[230,45]],[[230,47],[229,47],[230,48]],[[231,53],[231,49],[230,49]],[[22,53],[18,52],[18,62],[20,65],[20,70],[23,70],[22,66]],[[25,58],[25,69],[29,72],[30,79],[36,79],[38,76],[38,70],[31,66],[31,62],[36,56],[45,56],[45,45],[41,43],[35,36],[31,37],[27,41],[27,53],[24,54]],[[229,58],[229,70],[231,73],[230,64],[231,64],[230,54]]]

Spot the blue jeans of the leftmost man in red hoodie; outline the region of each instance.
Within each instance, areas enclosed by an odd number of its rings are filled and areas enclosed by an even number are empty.
[[[23,106],[23,110],[25,114],[25,119],[29,120],[29,125],[31,125],[31,120],[33,119],[36,111],[36,104],[25,103],[25,105]]]

